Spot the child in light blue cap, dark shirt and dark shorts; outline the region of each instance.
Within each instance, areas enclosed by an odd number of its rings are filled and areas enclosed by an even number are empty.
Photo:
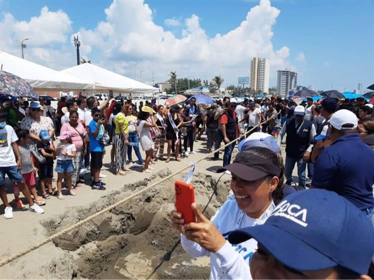
[[[45,162],[40,163],[39,165],[40,188],[43,194],[43,198],[49,199],[49,195],[52,194],[53,158],[55,157],[53,152],[55,148],[50,142],[51,137],[47,130],[40,131],[39,138],[40,142],[36,144],[36,147],[45,157]],[[45,192],[45,187],[48,188],[48,193]]]

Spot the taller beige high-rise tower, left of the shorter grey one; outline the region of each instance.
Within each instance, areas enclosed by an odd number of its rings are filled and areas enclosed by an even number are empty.
[[[254,57],[251,60],[250,76],[251,90],[253,92],[261,91],[263,93],[267,93],[269,91],[270,79],[269,59]]]

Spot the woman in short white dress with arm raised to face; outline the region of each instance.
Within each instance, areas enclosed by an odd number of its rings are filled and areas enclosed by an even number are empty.
[[[147,106],[144,106],[147,107]],[[140,132],[140,144],[142,145],[143,150],[146,152],[146,161],[144,164],[143,172],[152,173],[152,171],[149,169],[149,164],[152,159],[153,155],[153,148],[154,148],[154,142],[152,141],[151,137],[151,128],[156,128],[158,130],[157,124],[152,118],[152,123],[147,122],[147,119],[149,118],[149,112],[144,112],[144,108],[142,108],[142,111],[139,112],[138,115],[138,129]],[[152,110],[152,109],[151,109]]]

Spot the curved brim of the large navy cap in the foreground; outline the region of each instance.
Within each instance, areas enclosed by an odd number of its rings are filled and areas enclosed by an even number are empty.
[[[297,271],[328,269],[338,265],[295,235],[266,223],[231,232],[228,241],[239,244],[250,238],[257,240],[280,263]]]

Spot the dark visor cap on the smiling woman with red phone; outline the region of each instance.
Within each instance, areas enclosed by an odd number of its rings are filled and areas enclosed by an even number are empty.
[[[279,176],[281,169],[270,160],[245,151],[238,152],[234,161],[217,170],[217,173],[230,171],[239,178],[247,181],[255,181],[267,175]]]

